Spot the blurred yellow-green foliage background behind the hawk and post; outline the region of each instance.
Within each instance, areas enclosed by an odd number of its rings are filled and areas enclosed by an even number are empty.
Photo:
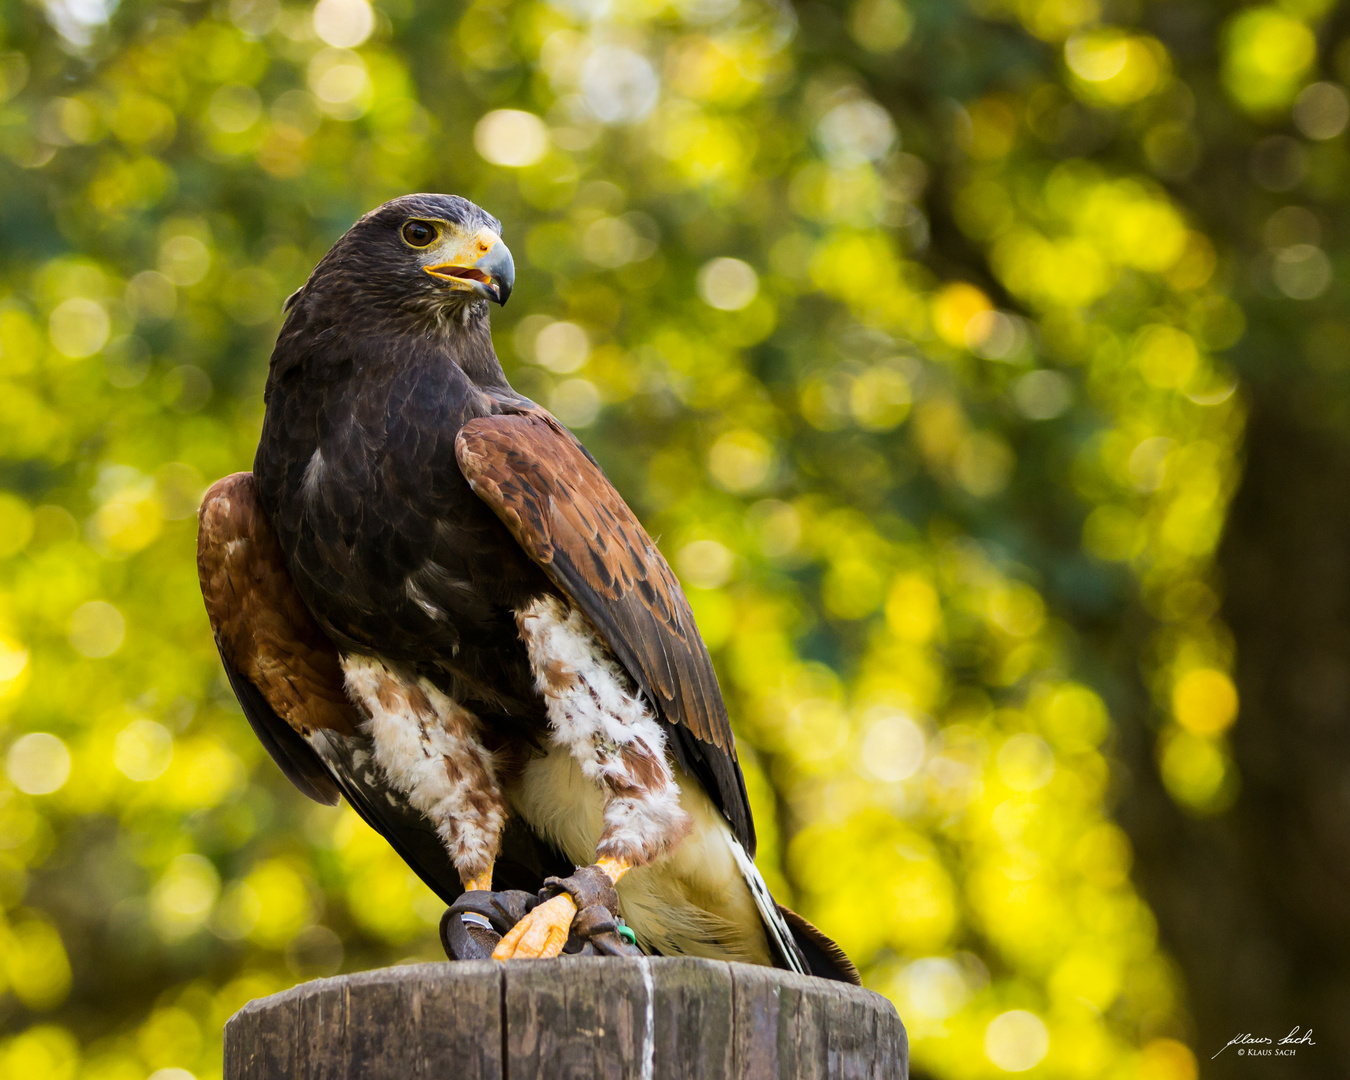
[[[1346,1075],[1347,81],[1328,0],[0,0],[0,1077],[209,1080],[440,956],[193,564],[282,300],[413,190],[505,223],[506,370],[915,1076]]]

